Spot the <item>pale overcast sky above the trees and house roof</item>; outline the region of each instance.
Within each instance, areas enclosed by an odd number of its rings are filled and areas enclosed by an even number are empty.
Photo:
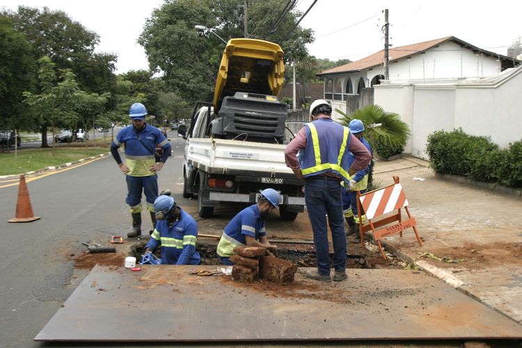
[[[280,0],[281,7],[287,3]],[[100,35],[97,51],[118,54],[117,72],[148,69],[143,48],[136,40],[145,19],[163,0],[1,0],[0,6],[47,6],[63,10],[87,29]],[[299,0],[303,13],[313,0]],[[301,26],[315,31],[308,51],[317,58],[351,61],[383,48],[383,10],[388,8],[390,43],[393,47],[456,36],[471,45],[506,54],[517,35],[522,35],[522,1],[468,0],[317,0]],[[274,8],[274,16],[278,14]],[[255,24],[249,25],[249,30]]]

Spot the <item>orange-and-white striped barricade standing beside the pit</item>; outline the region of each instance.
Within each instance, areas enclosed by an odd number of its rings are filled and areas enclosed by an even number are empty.
[[[393,181],[395,184],[383,187],[382,189],[363,194],[357,191],[357,211],[359,214],[359,233],[361,234],[361,246],[364,248],[364,232],[372,230],[374,239],[379,246],[379,250],[381,251],[383,258],[386,258],[386,255],[384,254],[381,245],[381,238],[389,235],[395,235],[396,233],[400,233],[400,236],[402,237],[402,231],[406,228],[413,228],[413,232],[415,232],[417,241],[419,242],[419,245],[422,246],[422,242],[420,242],[420,237],[416,228],[416,221],[413,217],[411,217],[409,212],[408,199],[406,198],[406,195],[402,190],[402,186],[399,183],[399,177],[394,176]],[[408,219],[402,220],[401,208],[406,210]],[[375,218],[390,212],[395,212],[395,214],[374,221]],[[366,221],[364,223],[362,219],[363,215],[366,216]],[[394,224],[390,225],[390,223]],[[376,230],[376,228],[380,227],[383,228]]]

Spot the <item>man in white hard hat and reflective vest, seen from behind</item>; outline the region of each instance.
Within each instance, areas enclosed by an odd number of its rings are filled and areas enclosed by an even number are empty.
[[[326,100],[310,105],[312,122],[304,125],[285,149],[286,165],[305,180],[305,202],[312,225],[317,269],[306,271],[308,278],[329,282],[330,259],[326,214],[332,234],[333,280],[347,278],[345,220],[342,216],[341,181],[365,168],[372,156],[358,139],[331,119],[332,108]],[[299,159],[297,158],[299,152]],[[355,161],[349,159],[349,153]]]

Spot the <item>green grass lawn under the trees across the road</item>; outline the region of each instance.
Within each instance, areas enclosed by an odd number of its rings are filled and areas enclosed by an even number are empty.
[[[48,166],[61,166],[63,164],[88,158],[109,152],[108,148],[85,148],[84,146],[47,149],[19,150],[15,157],[15,151],[0,153],[0,175],[12,175],[38,171]]]

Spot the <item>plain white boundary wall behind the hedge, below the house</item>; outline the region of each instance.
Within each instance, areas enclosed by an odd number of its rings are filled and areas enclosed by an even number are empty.
[[[461,127],[500,147],[521,140],[521,91],[522,66],[484,81],[381,84],[374,86],[374,104],[402,116],[412,132],[404,152],[427,159],[427,136],[436,130]]]

